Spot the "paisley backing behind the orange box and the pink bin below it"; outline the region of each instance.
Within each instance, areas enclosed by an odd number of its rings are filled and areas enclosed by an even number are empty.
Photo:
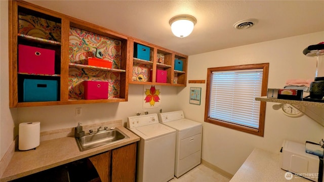
[[[100,50],[104,60],[112,62],[113,69],[120,69],[121,42],[85,30],[70,28],[70,63],[85,64]],[[108,99],[119,98],[120,74],[91,68],[69,68],[69,99],[84,99],[84,80],[108,81]]]

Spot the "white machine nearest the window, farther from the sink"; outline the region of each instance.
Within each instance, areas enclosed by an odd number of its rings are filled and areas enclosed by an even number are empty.
[[[185,119],[183,111],[160,113],[159,122],[177,130],[175,176],[180,177],[201,162],[203,124]]]

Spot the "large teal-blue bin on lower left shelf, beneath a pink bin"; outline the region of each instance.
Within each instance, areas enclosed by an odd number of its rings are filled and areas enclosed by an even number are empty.
[[[23,101],[57,101],[57,80],[24,79]]]

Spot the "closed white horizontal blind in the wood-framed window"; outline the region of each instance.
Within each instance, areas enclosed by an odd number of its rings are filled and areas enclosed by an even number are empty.
[[[211,118],[259,128],[263,69],[214,71],[209,115]]]

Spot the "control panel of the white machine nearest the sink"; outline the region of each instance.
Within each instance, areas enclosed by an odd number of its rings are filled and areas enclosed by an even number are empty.
[[[136,128],[140,126],[145,126],[149,124],[158,123],[157,114],[147,114],[143,116],[131,116],[127,120],[127,128]]]

